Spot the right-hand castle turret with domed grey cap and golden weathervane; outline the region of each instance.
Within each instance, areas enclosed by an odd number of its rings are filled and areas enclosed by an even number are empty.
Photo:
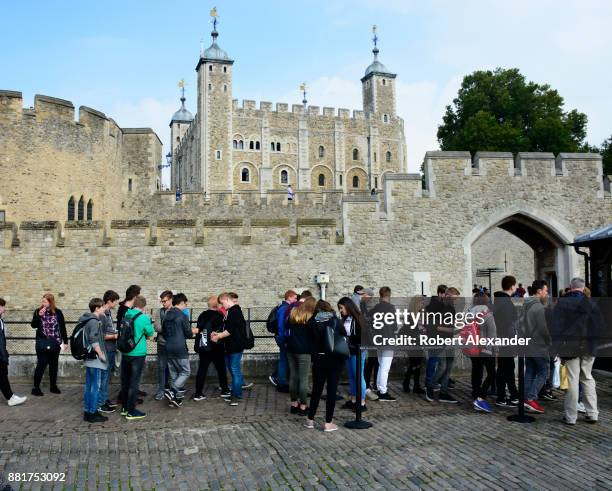
[[[395,73],[391,73],[385,65],[378,61],[378,37],[376,26],[374,32],[374,60],[366,68],[365,75],[361,79],[363,93],[363,110],[367,115],[380,118],[383,123],[388,123],[395,117]],[[386,116],[386,118],[385,118]],[[385,120],[386,119],[386,120]]]

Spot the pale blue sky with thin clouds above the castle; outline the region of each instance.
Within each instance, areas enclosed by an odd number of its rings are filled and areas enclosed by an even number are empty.
[[[167,144],[180,79],[196,112],[213,6],[239,100],[298,104],[306,82],[310,104],[361,109],[376,24],[379,59],[397,73],[410,172],[438,149],[445,107],[474,70],[517,67],[587,114],[589,143],[612,135],[608,0],[22,0],[2,8],[0,89],[23,92],[25,107],[35,94],[90,106]]]

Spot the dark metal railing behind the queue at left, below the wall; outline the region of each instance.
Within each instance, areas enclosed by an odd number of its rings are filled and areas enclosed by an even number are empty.
[[[189,309],[191,324],[196,324],[198,316],[204,310],[206,310],[206,308],[202,307],[192,307]],[[242,309],[244,317],[246,318],[247,323],[251,327],[253,335],[255,337],[255,347],[252,350],[249,350],[249,353],[266,354],[278,352],[278,346],[276,345],[274,336],[270,334],[266,329],[266,319],[268,318],[268,314],[271,310],[272,307],[247,307]],[[153,309],[148,309],[147,313],[151,315],[152,311]],[[30,326],[33,313],[33,310],[9,310],[2,317],[2,320],[6,325],[6,330],[8,333],[6,340],[8,352],[10,355],[14,356],[36,354],[34,347],[36,331]],[[66,331],[68,332],[68,336],[70,337],[74,326],[78,322],[79,317],[83,315],[84,311],[62,309],[62,313],[64,314],[64,319],[66,321]],[[187,347],[189,348],[190,353],[194,353],[193,343],[193,339],[187,340]],[[147,340],[147,354],[156,353],[157,343],[155,343],[153,339]],[[70,351],[64,351],[61,354],[70,355]]]

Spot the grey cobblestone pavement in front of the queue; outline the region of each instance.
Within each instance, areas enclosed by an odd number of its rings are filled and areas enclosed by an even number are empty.
[[[612,380],[598,383],[600,422],[560,422],[562,402],[524,425],[511,410],[475,413],[462,378],[456,406],[390,391],[369,402],[368,430],[334,433],[302,426],[287,395],[256,384],[238,407],[208,387],[208,399],[171,409],[151,398],[148,416],[82,421],[82,387],[0,406],[0,472],[65,472],[64,483],[11,483],[13,489],[612,489]],[[26,386],[16,386],[26,394]],[[345,390],[345,387],[342,387]],[[44,388],[43,388],[44,391]],[[187,396],[191,395],[190,393]],[[561,395],[562,397],[562,395]],[[351,413],[337,409],[336,422]]]

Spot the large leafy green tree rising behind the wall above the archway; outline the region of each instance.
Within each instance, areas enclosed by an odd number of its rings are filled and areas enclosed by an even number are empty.
[[[563,110],[549,85],[526,82],[518,69],[476,71],[463,79],[438,127],[442,150],[577,152],[587,117]]]

